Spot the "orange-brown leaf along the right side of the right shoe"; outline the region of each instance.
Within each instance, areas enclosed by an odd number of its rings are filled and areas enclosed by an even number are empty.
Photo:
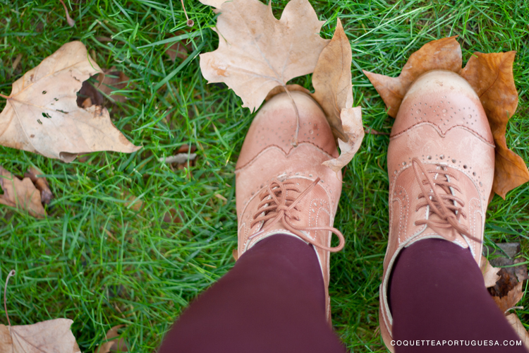
[[[505,140],[507,122],[518,106],[518,92],[513,78],[515,54],[516,52],[475,52],[461,71],[461,76],[478,93],[489,119],[496,143],[492,190],[502,198],[516,186],[529,181],[529,170],[525,162],[507,148]]]

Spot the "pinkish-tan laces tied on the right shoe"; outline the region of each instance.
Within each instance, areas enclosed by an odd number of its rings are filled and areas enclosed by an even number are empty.
[[[428,217],[428,220],[415,221],[415,225],[427,225],[428,227],[439,228],[452,227],[459,233],[481,243],[480,239],[476,239],[470,235],[468,227],[461,225],[459,222],[461,216],[466,219],[466,214],[463,211],[463,207],[465,207],[463,200],[451,193],[451,189],[461,193],[461,189],[451,182],[451,179],[458,181],[457,177],[449,172],[448,167],[441,164],[437,164],[440,169],[426,170],[424,164],[417,157],[411,160],[411,164],[413,166],[413,172],[415,172],[415,179],[417,179],[420,186],[421,193],[418,198],[424,198],[424,201],[417,205],[416,211],[424,206],[430,206],[430,215],[435,214],[440,218],[440,220],[432,220]],[[436,178],[433,181],[429,174],[438,174],[439,179]],[[422,176],[425,179],[422,179]],[[425,188],[426,185],[430,186],[430,191],[427,191]],[[446,234],[441,235],[448,241],[454,241],[456,239],[455,234],[452,237]]]

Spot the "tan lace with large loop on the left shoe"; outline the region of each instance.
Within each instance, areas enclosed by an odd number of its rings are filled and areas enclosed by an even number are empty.
[[[303,197],[305,197],[316,186],[318,181],[320,181],[320,178],[317,178],[312,184],[310,184],[310,186],[307,187],[307,189],[301,192],[296,186],[296,183],[293,181],[279,181],[278,179],[272,179],[269,182],[267,188],[262,191],[259,196],[261,202],[259,205],[257,205],[257,211],[252,217],[253,221],[250,224],[250,227],[255,226],[259,222],[263,222],[263,224],[267,222],[267,225],[262,228],[260,232],[253,234],[249,238],[252,239],[257,237],[259,234],[266,232],[272,227],[272,225],[281,220],[288,231],[296,234],[298,237],[309,244],[312,244],[313,246],[317,246],[320,249],[332,252],[343,249],[343,246],[345,245],[345,239],[343,238],[343,234],[341,234],[338,229],[326,226],[298,227],[291,222],[291,220],[300,220],[298,215],[294,215],[295,211],[299,212],[297,205],[299,201],[301,201],[301,199],[303,199]],[[293,198],[293,193],[299,193],[298,197]],[[327,230],[332,232],[336,234],[340,240],[340,243],[335,247],[328,247],[318,244],[316,241],[303,234],[304,231],[311,230]]]

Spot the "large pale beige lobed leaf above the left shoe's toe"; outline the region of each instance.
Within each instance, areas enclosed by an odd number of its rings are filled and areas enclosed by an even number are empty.
[[[200,54],[202,75],[224,82],[254,111],[272,88],[312,73],[328,40],[308,0],[291,0],[281,19],[257,0],[222,4],[217,20],[219,48]]]

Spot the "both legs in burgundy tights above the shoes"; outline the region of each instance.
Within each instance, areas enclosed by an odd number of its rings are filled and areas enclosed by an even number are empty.
[[[312,246],[274,235],[189,306],[159,353],[345,352],[325,319]],[[396,340],[517,340],[468,250],[427,239],[401,252],[391,278]],[[520,347],[396,347],[407,352],[525,352]]]

